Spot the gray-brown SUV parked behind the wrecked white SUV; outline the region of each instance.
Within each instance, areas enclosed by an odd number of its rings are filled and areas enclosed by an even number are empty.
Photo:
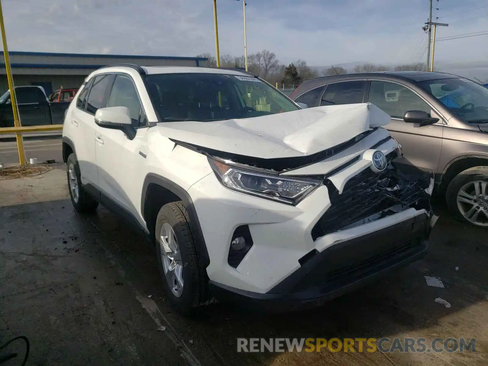
[[[307,107],[370,102],[391,116],[399,163],[433,171],[436,191],[459,220],[488,227],[488,89],[459,76],[421,71],[305,80],[290,96]]]

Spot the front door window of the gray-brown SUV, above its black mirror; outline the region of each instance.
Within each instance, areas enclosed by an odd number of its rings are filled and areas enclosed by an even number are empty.
[[[407,111],[425,111],[430,115],[426,102],[410,89],[393,82],[371,81],[368,102],[395,118],[403,118]]]

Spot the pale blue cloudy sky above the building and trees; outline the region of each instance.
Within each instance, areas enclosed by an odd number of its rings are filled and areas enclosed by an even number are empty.
[[[10,51],[215,54],[212,0],[2,0]],[[433,0],[437,37],[488,31],[487,0]],[[247,0],[248,53],[288,63],[426,62],[428,0]],[[439,8],[436,10],[435,8]],[[217,0],[220,53],[244,54],[242,0]],[[488,60],[488,35],[439,41],[439,62]],[[488,62],[488,61],[487,61]]]

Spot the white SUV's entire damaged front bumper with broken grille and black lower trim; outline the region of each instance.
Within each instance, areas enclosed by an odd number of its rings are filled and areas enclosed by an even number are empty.
[[[290,171],[286,177],[323,180],[296,205],[230,190],[216,174],[195,183],[188,193],[211,243],[207,274],[216,298],[272,311],[315,306],[422,258],[437,220],[433,175],[402,174],[393,163],[398,145],[383,143],[388,168],[381,172],[365,158],[325,177]],[[230,244],[243,227],[252,246],[232,265]]]

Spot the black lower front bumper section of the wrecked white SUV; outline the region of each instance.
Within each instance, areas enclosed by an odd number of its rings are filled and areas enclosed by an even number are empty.
[[[374,283],[395,269],[423,258],[430,231],[427,213],[369,234],[312,250],[300,267],[266,293],[209,282],[217,299],[271,312],[323,305],[347,292]]]

